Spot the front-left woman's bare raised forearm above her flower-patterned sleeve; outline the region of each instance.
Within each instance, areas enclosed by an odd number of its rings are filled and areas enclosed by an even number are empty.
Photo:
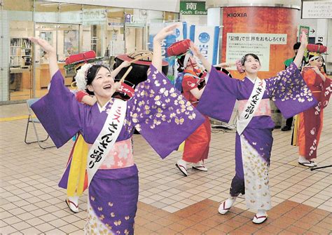
[[[166,36],[173,34],[173,30],[177,27],[179,27],[179,24],[167,26],[161,29],[153,38],[153,58],[151,63],[160,72],[162,71],[161,42]]]

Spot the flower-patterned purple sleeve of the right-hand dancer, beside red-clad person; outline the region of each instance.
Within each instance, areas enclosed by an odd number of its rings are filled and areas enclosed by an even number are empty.
[[[293,62],[277,76],[265,81],[270,98],[285,119],[317,105],[317,100]]]

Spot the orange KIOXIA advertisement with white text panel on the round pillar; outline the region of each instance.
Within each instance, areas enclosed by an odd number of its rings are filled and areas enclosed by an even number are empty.
[[[262,65],[258,76],[268,78],[284,69],[284,60],[293,57],[298,10],[227,7],[222,14],[221,62],[234,62],[246,53],[256,53]],[[232,73],[240,77],[235,70]]]

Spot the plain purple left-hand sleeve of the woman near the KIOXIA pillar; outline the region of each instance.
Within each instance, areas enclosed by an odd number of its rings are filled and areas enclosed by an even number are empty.
[[[237,80],[212,67],[198,111],[214,119],[228,122],[237,98]]]

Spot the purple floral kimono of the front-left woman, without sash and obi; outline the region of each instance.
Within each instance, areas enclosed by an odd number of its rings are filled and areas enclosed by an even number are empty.
[[[82,133],[85,142],[93,144],[104,126],[113,99],[99,111],[77,102],[64,86],[60,71],[53,76],[50,90],[32,105],[36,116],[57,147],[73,135]],[[132,137],[134,128],[162,158],[177,149],[198,128],[204,117],[186,101],[155,67],[148,69],[148,79],[139,83],[135,95],[127,101],[123,127],[116,140]],[[134,234],[134,216],[138,200],[136,165],[97,170],[89,186],[88,234]]]

